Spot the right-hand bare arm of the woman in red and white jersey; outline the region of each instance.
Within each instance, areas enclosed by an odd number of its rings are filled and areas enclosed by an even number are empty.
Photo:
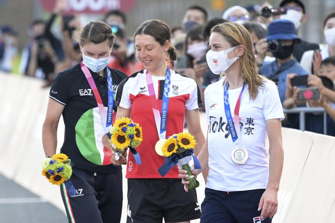
[[[194,154],[198,156],[200,154],[203,144],[205,143],[205,137],[203,136],[200,126],[199,110],[186,110],[185,117],[188,131],[194,136],[197,141],[196,148],[194,149]]]

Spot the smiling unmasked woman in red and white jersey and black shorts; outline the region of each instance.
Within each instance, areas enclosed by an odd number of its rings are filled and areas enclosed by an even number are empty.
[[[143,131],[143,142],[136,148],[142,164],[136,164],[132,154],[127,163],[127,222],[161,223],[164,218],[167,223],[187,223],[200,218],[196,191],[183,190],[177,179],[177,167],[164,177],[158,172],[164,158],[155,152],[155,145],[160,139],[182,132],[185,118],[188,131],[198,143],[196,154],[205,141],[200,127],[198,109],[202,102],[196,81],[167,67],[167,60],[176,59],[170,39],[171,31],[165,22],[142,23],[134,34],[134,42],[144,70],[122,81],[117,90],[116,118],[131,117]],[[155,107],[159,108],[159,114],[156,111],[154,115]],[[114,163],[124,161],[125,158]]]

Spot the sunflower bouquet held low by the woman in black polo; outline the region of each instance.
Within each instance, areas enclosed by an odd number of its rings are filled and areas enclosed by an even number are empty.
[[[42,175],[51,184],[58,186],[63,184],[72,175],[71,160],[63,153],[46,158],[42,164]]]

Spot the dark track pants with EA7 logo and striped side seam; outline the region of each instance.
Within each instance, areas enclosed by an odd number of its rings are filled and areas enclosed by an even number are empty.
[[[95,173],[73,168],[71,182],[77,195],[69,197],[64,184],[61,186],[69,223],[120,223],[122,171]]]

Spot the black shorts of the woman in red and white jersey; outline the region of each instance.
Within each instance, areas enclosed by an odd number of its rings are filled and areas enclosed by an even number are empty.
[[[197,191],[180,179],[128,179],[127,223],[184,222],[199,219]]]

